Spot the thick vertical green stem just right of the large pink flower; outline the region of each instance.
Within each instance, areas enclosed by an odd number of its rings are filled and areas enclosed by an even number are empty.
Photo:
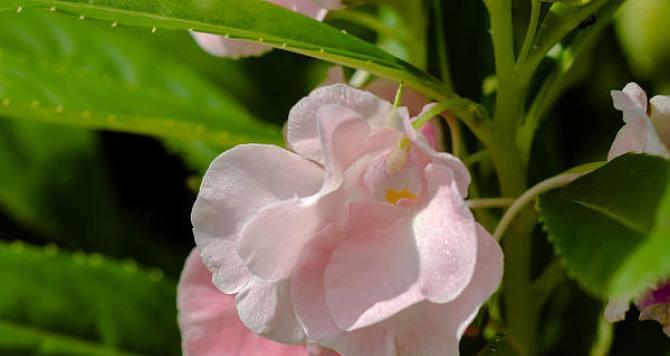
[[[525,78],[515,71],[512,3],[510,0],[484,0],[491,19],[491,38],[495,54],[498,92],[488,149],[498,174],[503,197],[517,197],[526,190],[526,167],[517,147],[517,123],[523,111]],[[524,211],[508,229],[505,241],[505,317],[508,340],[522,355],[535,353],[538,308],[533,303],[530,276],[531,241],[534,212]]]

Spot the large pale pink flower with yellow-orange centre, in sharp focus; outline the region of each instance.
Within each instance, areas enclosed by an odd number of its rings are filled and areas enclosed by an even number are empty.
[[[406,108],[342,84],[289,114],[295,153],[219,156],[193,209],[214,284],[283,343],[344,355],[456,354],[502,276],[502,252],[464,197],[470,177]]]

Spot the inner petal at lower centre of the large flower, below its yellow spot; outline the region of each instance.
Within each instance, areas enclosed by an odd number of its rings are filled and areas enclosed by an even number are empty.
[[[386,204],[366,208],[374,212],[358,209],[356,214],[381,216],[345,222],[346,240],[334,249],[323,277],[326,305],[338,328],[346,331],[387,319],[424,299],[411,216]]]

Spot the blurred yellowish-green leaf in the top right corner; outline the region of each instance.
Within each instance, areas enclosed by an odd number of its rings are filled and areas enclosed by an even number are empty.
[[[627,1],[621,7],[617,35],[635,74],[651,80],[670,79],[669,13],[668,0]]]

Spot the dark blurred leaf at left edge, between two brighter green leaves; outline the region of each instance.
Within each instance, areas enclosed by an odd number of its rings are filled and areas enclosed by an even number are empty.
[[[0,211],[61,246],[178,271],[182,254],[124,213],[107,173],[92,132],[0,120]]]

